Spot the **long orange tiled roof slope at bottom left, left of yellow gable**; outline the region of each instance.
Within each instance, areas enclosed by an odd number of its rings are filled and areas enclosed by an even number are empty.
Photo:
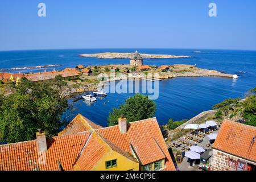
[[[0,171],[73,170],[77,156],[90,133],[80,133],[47,140],[48,150],[38,153],[37,140],[0,145]]]

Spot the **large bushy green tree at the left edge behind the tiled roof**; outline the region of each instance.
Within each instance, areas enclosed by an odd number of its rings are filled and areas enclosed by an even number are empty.
[[[9,143],[35,139],[38,129],[48,137],[62,126],[61,114],[68,106],[52,82],[20,79],[13,94],[0,98],[0,141]]]

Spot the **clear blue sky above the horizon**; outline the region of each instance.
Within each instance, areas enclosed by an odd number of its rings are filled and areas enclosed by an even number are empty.
[[[38,16],[40,2],[46,3],[46,17]],[[217,5],[217,17],[208,15],[211,2]],[[1,1],[0,50],[256,50],[255,7],[255,0]]]

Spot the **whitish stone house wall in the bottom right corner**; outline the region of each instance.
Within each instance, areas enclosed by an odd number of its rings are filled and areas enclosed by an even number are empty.
[[[237,163],[237,161],[244,162],[244,163],[249,163],[253,164],[256,166],[256,163],[251,162],[249,160],[245,160],[242,158],[238,158],[237,156],[227,154],[225,152],[216,150],[213,148],[213,158],[212,158],[212,163],[210,165],[210,169],[212,171],[236,171],[237,167],[232,167],[229,166],[229,161],[233,160],[234,162]],[[247,164],[245,165],[245,171],[247,168]]]

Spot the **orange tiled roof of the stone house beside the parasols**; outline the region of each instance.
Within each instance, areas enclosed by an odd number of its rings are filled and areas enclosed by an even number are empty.
[[[256,127],[224,120],[213,148],[256,162]]]

